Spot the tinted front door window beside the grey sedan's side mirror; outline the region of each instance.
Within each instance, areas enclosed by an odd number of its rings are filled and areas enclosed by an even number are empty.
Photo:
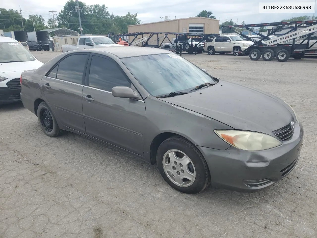
[[[115,86],[131,88],[131,83],[117,63],[104,57],[93,56],[89,70],[89,86],[111,92]]]

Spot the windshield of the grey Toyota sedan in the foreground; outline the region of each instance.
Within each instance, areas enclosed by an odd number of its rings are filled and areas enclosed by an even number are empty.
[[[188,92],[203,83],[217,81],[196,65],[175,53],[121,59],[138,82],[152,96]]]

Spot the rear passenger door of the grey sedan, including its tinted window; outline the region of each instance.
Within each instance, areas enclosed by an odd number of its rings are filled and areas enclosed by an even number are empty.
[[[44,96],[64,126],[85,133],[82,89],[88,54],[75,53],[62,59],[41,81]]]

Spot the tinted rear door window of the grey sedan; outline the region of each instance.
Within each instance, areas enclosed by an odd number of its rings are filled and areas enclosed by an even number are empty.
[[[88,55],[70,55],[58,64],[57,77],[71,83],[81,84]],[[53,69],[54,70],[54,69]]]

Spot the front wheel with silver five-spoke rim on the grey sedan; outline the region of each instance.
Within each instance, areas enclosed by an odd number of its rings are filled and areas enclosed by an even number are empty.
[[[157,151],[156,161],[164,180],[180,192],[200,193],[210,184],[204,156],[182,137],[172,136],[163,141]]]

